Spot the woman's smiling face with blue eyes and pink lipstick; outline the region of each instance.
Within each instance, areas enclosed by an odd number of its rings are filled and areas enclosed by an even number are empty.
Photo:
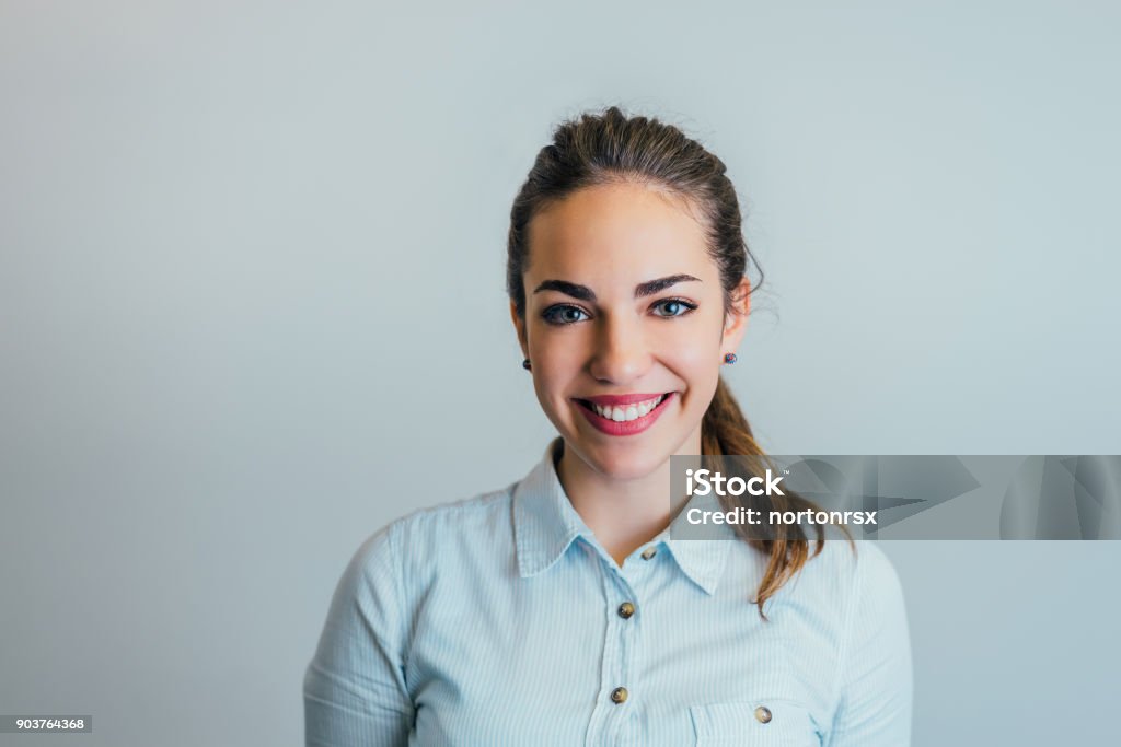
[[[566,447],[621,479],[698,454],[724,353],[743,335],[742,316],[725,320],[701,225],[680,202],[628,183],[550,206],[528,239],[525,321],[512,304],[511,315]]]

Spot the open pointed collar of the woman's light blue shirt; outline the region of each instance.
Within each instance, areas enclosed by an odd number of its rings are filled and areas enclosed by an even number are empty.
[[[560,437],[550,441],[541,460],[513,488],[515,547],[521,578],[552,568],[568,545],[581,536],[608,557],[560,485],[554,459],[559,456],[563,446]],[[720,540],[671,540],[667,527],[645,548],[668,549],[682,571],[712,595],[724,575],[728,553],[734,541],[735,535],[730,527],[728,539]]]

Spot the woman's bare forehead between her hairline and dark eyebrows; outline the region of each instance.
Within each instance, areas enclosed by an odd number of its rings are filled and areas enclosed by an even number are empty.
[[[708,258],[704,231],[680,198],[632,183],[581,189],[530,221],[527,274],[620,281],[659,273],[701,277]]]

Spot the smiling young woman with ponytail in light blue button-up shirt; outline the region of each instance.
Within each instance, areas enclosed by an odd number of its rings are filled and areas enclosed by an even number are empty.
[[[559,436],[521,480],[362,544],[307,669],[307,745],[910,744],[879,548],[670,536],[671,456],[762,455],[720,376],[752,290],[724,170],[617,108],[538,153],[507,282]]]

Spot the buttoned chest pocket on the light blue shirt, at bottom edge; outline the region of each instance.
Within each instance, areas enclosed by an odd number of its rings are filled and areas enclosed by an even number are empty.
[[[695,747],[821,747],[809,710],[781,698],[691,706]]]

